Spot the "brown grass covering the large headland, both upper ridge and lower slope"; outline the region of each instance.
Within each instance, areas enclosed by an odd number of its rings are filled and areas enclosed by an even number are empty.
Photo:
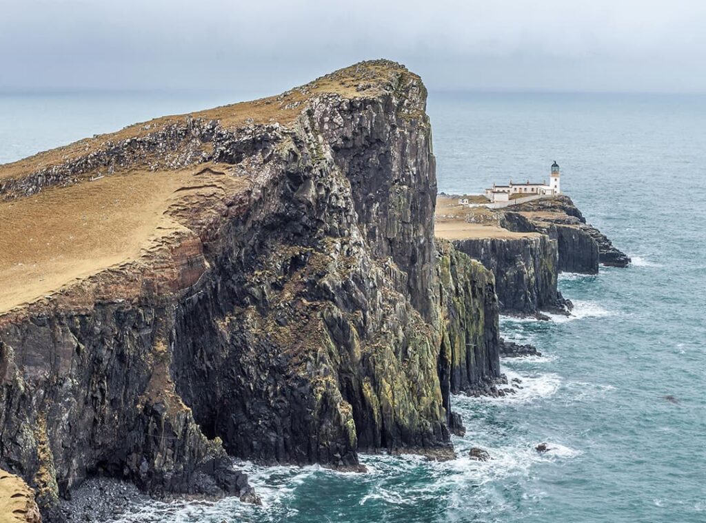
[[[334,93],[353,99],[378,95],[382,90],[395,90],[401,74],[418,78],[390,61],[355,64],[279,96],[163,116],[42,152],[0,166],[0,180],[21,179],[103,150],[108,143],[157,133],[192,118],[217,120],[222,128],[273,121],[286,126],[314,96]],[[101,179],[85,175],[71,186],[45,187],[33,196],[0,202],[0,314],[106,267],[138,259],[158,239],[183,227],[180,217],[203,215],[208,205],[193,198],[195,191],[225,190],[232,195],[247,185],[245,179],[229,174],[192,176],[203,165],[169,172],[153,172],[146,164],[133,165]],[[227,168],[213,166],[215,171]]]

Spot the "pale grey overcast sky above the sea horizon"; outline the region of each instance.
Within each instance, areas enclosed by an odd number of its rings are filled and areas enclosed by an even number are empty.
[[[706,0],[0,0],[0,90],[269,94],[362,59],[431,90],[706,92]]]

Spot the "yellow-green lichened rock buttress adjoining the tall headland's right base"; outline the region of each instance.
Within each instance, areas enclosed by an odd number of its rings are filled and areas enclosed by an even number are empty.
[[[437,239],[441,348],[438,373],[449,426],[459,429],[450,392],[484,390],[500,378],[498,300],[493,273]]]

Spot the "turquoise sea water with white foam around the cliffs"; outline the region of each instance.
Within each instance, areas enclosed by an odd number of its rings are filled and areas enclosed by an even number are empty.
[[[0,97],[0,162],[229,100]],[[429,114],[440,191],[543,179],[556,160],[633,265],[562,275],[570,318],[503,318],[503,335],[544,354],[503,361],[523,380],[514,397],[454,398],[457,459],[364,456],[368,474],[242,464],[262,507],[151,503],[124,521],[706,522],[706,97],[432,92]],[[470,461],[471,446],[494,459]]]

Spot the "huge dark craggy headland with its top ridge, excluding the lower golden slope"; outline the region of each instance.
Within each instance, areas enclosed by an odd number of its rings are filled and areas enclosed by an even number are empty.
[[[450,452],[449,393],[498,374],[497,305],[479,264],[444,246],[437,265],[425,101],[366,62],[0,168],[8,201],[184,180],[136,258],[0,313],[0,463],[50,518],[92,475],[255,500],[227,455]]]

